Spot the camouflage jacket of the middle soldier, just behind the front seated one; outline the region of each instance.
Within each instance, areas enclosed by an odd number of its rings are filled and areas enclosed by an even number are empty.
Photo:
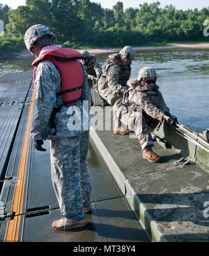
[[[98,89],[103,98],[110,93],[120,93],[131,75],[130,65],[124,66],[120,54],[111,54],[102,67],[102,77],[98,81]]]

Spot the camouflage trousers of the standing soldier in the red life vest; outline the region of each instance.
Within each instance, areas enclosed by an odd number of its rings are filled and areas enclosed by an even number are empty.
[[[83,220],[82,208],[90,206],[88,143],[89,131],[75,137],[51,140],[54,192],[63,217],[70,220]]]

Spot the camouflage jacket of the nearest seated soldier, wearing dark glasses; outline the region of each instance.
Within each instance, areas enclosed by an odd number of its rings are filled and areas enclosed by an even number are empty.
[[[153,89],[148,89],[137,81],[137,78],[129,80],[127,84],[130,89],[125,93],[123,104],[133,107],[140,106],[142,114],[162,121],[164,112],[169,112],[169,108],[164,102],[162,93],[159,91],[160,87],[155,84]]]

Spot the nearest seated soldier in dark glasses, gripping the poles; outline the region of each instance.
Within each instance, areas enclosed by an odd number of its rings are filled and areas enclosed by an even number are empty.
[[[130,88],[123,98],[121,117],[121,122],[137,135],[143,158],[151,163],[159,162],[160,156],[152,150],[153,138],[150,133],[160,121],[166,120],[170,126],[175,126],[177,122],[164,103],[156,80],[155,68],[144,67],[139,70],[137,78],[127,82]]]

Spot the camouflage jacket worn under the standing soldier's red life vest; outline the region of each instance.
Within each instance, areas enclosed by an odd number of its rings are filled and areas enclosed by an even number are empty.
[[[56,96],[60,91],[61,76],[52,61],[42,61],[36,71],[36,103],[33,114],[31,137],[37,140],[59,140],[65,137],[77,136],[88,130],[90,109],[90,91],[87,84],[87,74],[84,66],[79,62],[84,71],[82,86],[82,100],[70,107],[61,107],[59,112],[54,112],[55,129],[50,125],[50,117],[54,108],[63,104],[62,96]],[[84,103],[84,105],[83,105]],[[84,120],[84,123],[82,122]]]

